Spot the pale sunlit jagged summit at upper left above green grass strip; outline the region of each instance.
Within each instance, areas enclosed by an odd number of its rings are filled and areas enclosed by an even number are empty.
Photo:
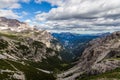
[[[27,23],[20,22],[16,19],[8,19],[0,17],[0,30],[11,30],[21,32],[25,30],[34,30],[35,28],[29,26]]]

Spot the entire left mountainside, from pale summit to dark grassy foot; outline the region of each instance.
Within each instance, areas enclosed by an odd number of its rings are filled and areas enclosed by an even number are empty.
[[[55,80],[59,69],[67,67],[59,56],[61,49],[47,31],[0,18],[1,80]]]

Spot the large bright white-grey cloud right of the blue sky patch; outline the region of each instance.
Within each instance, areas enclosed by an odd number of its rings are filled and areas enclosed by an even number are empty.
[[[47,18],[61,20],[102,17],[110,15],[108,12],[117,8],[120,9],[120,0],[66,0],[62,6],[52,9]]]

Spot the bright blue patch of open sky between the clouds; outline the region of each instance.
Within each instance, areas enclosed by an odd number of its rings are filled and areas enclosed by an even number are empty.
[[[33,19],[37,12],[49,12],[52,8],[56,6],[51,6],[50,3],[42,2],[42,3],[35,3],[34,1],[30,1],[29,3],[20,3],[22,5],[19,9],[14,9],[17,13],[25,13],[26,16],[20,18],[19,20],[25,21],[27,19]]]

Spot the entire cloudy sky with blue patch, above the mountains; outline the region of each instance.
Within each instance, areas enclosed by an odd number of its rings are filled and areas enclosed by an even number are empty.
[[[49,32],[113,32],[120,30],[120,0],[0,0],[0,17]]]

